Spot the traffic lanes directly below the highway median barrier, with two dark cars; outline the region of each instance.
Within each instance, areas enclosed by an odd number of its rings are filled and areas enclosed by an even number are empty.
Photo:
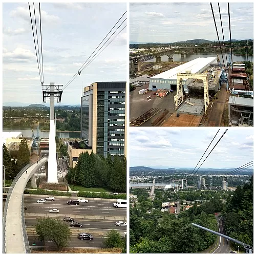
[[[36,219],[37,217],[25,216],[26,227],[35,226],[38,223]],[[58,219],[63,220],[63,217],[59,217]],[[115,225],[115,221],[110,221],[110,220],[97,221],[97,220],[88,220],[84,218],[79,218],[79,219],[76,218],[75,221],[78,223],[81,223],[83,225],[83,228],[116,229],[116,230],[123,230],[123,231],[126,230],[125,226],[118,227]],[[63,223],[66,223],[69,226],[71,224],[71,222],[65,222],[65,221],[63,221]]]

